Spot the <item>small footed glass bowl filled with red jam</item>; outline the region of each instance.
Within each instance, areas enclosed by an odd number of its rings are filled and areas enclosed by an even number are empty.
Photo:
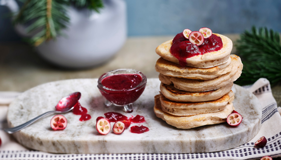
[[[105,105],[124,106],[126,112],[133,111],[132,103],[143,93],[147,77],[134,69],[116,69],[98,78],[98,89],[106,98]]]

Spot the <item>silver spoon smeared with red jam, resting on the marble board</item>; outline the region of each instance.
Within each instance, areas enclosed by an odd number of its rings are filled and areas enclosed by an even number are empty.
[[[27,126],[29,126],[30,124],[32,124],[33,122],[35,122],[36,120],[49,115],[51,113],[66,113],[69,112],[70,110],[72,110],[74,108],[74,105],[78,102],[78,100],[81,97],[81,93],[80,92],[74,92],[71,93],[63,98],[61,98],[61,100],[58,102],[58,104],[56,105],[56,110],[52,110],[52,111],[47,111],[21,125],[12,127],[12,128],[5,128],[4,130],[10,134],[19,131]]]

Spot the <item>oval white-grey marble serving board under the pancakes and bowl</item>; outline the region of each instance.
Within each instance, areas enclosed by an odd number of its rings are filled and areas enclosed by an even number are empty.
[[[159,93],[159,79],[148,79],[144,93],[133,103],[134,111],[125,113],[122,107],[105,107],[97,88],[97,79],[70,79],[45,83],[22,93],[10,104],[8,123],[17,126],[46,111],[55,109],[61,97],[71,92],[82,93],[80,103],[88,109],[90,120],[79,121],[80,115],[65,113],[68,125],[64,130],[53,130],[47,116],[25,129],[14,133],[24,146],[53,153],[199,153],[225,150],[246,143],[259,131],[261,106],[258,99],[244,88],[234,85],[235,109],[244,117],[237,127],[226,122],[192,129],[178,129],[156,117],[154,96]],[[116,111],[128,117],[144,115],[149,131],[141,134],[126,129],[122,134],[110,131],[99,134],[96,117]],[[113,123],[111,123],[112,127]],[[112,129],[111,129],[112,130]]]

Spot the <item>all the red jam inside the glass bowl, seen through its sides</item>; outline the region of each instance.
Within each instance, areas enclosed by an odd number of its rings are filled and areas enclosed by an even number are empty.
[[[142,85],[138,85],[141,82]],[[101,94],[116,105],[126,105],[134,102],[141,96],[145,86],[146,82],[143,82],[143,78],[139,74],[113,74],[104,77],[101,79],[101,85],[98,84]]]

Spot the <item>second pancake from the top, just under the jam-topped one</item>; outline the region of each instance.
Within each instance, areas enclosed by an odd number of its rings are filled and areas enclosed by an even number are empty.
[[[180,64],[173,63],[160,57],[155,65],[156,71],[167,76],[174,76],[188,79],[213,79],[222,74],[228,73],[232,70],[233,61],[231,63],[230,55],[226,63],[211,67],[211,68],[197,68],[192,66],[180,66]]]

